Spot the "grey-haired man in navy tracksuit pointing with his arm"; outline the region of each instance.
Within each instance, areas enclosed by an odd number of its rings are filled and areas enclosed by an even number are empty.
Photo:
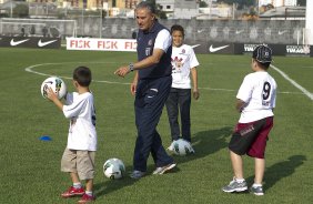
[[[151,152],[155,163],[153,174],[163,174],[176,164],[162,146],[156,125],[172,84],[172,39],[169,30],[155,19],[154,8],[142,1],[135,9],[139,32],[138,62],[119,68],[114,73],[124,76],[135,70],[131,92],[135,94],[135,125],[138,137],[131,177],[145,175],[147,161]]]

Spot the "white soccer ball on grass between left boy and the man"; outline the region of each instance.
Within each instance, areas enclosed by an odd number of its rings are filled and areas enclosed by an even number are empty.
[[[125,173],[125,165],[119,159],[110,159],[103,164],[103,173],[110,180],[118,180],[123,177]]]

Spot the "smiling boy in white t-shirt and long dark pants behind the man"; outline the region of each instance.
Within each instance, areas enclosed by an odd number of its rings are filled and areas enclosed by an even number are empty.
[[[166,100],[166,111],[171,126],[172,143],[168,150],[174,150],[174,141],[180,137],[191,142],[190,131],[190,104],[191,104],[191,88],[193,89],[193,98],[199,99],[198,90],[198,59],[192,47],[183,44],[184,29],[174,24],[171,28],[172,34],[172,88]],[[193,86],[191,85],[191,78]],[[178,122],[179,112],[181,115],[181,130]],[[194,150],[191,147],[191,152]]]

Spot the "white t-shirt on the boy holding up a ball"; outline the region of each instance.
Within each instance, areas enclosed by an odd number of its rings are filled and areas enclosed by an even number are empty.
[[[90,92],[68,93],[65,104],[63,105],[63,114],[71,120],[67,147],[95,151],[97,132],[93,95]]]

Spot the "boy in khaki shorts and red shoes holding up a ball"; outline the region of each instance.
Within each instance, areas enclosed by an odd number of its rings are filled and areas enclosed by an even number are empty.
[[[79,203],[94,201],[92,193],[94,177],[94,155],[97,151],[95,111],[93,95],[89,90],[91,71],[79,67],[73,72],[77,92],[67,93],[65,104],[50,89],[50,99],[70,119],[68,145],[61,160],[61,171],[70,173],[73,185],[61,194],[62,197],[82,196]],[[81,185],[85,180],[85,191]]]

